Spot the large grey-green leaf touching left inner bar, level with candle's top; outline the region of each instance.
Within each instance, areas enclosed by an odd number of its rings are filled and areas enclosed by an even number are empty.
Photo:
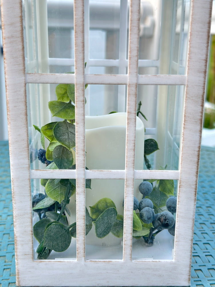
[[[62,146],[71,150],[75,147],[75,125],[67,121],[58,122],[53,129],[54,137]]]

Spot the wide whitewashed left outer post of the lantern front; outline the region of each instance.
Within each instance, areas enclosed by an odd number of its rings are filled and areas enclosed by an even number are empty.
[[[21,268],[27,273],[28,263],[33,260],[25,59],[21,15],[21,1],[1,0],[16,280],[18,285],[22,275],[20,275]]]

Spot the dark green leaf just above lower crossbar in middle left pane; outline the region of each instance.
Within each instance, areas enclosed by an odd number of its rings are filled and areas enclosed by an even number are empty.
[[[53,150],[53,160],[59,169],[68,169],[73,164],[73,154],[62,145],[58,145]]]

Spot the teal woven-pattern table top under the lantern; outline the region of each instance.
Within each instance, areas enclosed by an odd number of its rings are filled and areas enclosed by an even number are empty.
[[[15,287],[8,142],[0,141],[0,287]],[[193,236],[191,287],[215,287],[215,149],[202,147]]]

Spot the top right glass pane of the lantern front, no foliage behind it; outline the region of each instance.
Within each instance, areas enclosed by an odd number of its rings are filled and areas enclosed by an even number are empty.
[[[188,15],[186,0],[141,1],[140,74],[185,73]]]

